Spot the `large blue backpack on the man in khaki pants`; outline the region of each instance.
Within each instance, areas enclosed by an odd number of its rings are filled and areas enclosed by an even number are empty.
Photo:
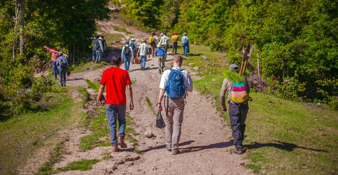
[[[169,69],[170,74],[168,76],[167,86],[165,87],[167,96],[169,98],[182,97],[186,92],[186,85],[183,80],[183,69],[174,70]]]

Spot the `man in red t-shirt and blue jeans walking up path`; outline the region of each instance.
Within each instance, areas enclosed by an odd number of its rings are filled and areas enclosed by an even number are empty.
[[[107,86],[107,99],[106,99],[106,113],[109,122],[110,134],[112,138],[113,152],[118,149],[117,145],[121,148],[126,148],[124,143],[124,129],[126,127],[126,86],[128,88],[128,94],[130,99],[130,110],[134,109],[132,101],[131,81],[129,74],[126,70],[120,69],[121,57],[114,55],[112,58],[113,67],[103,71],[101,78],[101,86],[97,96],[97,102],[101,104],[101,95],[104,91],[104,87]],[[119,120],[119,135],[116,138],[116,121]]]

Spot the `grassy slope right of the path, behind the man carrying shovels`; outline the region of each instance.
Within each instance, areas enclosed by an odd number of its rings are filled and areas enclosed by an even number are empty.
[[[178,50],[183,53],[182,49]],[[221,53],[208,52],[208,48],[191,46],[185,65],[198,66],[204,79],[194,81],[202,94],[210,94],[217,111],[221,111],[219,92],[225,63]],[[198,54],[197,54],[198,53]],[[210,62],[204,61],[207,55]],[[191,64],[193,63],[193,64]],[[213,79],[215,79],[213,81]],[[323,110],[272,97],[250,93],[246,120],[244,147],[245,165],[262,174],[335,174],[338,172],[338,112]],[[227,112],[220,112],[229,121]],[[229,122],[228,122],[229,123]],[[227,139],[227,138],[224,138]]]

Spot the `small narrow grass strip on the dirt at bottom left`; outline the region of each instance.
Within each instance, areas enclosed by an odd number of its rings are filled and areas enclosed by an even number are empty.
[[[97,159],[92,159],[92,160],[86,160],[83,159],[78,162],[71,162],[67,165],[67,167],[64,168],[58,168],[57,171],[75,171],[75,170],[80,170],[80,171],[87,171],[92,169],[92,165],[100,162],[100,160]]]

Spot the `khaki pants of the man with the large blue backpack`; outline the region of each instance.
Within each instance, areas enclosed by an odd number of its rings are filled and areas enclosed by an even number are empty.
[[[181,137],[181,126],[183,122],[183,112],[184,112],[184,97],[178,98],[169,98],[166,97],[165,109],[169,110],[168,116],[166,119],[166,145],[168,148],[171,148],[172,152],[178,151],[178,142]],[[168,102],[167,102],[168,100]]]

